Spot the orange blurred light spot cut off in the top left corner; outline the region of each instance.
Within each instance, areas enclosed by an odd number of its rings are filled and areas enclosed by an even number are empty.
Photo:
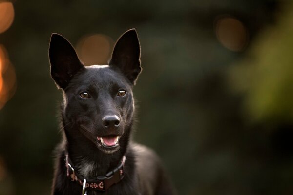
[[[11,2],[0,2],[0,33],[6,31],[14,20],[14,8]]]

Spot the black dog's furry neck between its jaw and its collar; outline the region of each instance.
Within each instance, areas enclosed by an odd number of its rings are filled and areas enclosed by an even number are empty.
[[[73,163],[72,166],[80,175],[85,178],[104,176],[121,162],[128,145],[127,136],[120,138],[122,145],[118,151],[113,154],[105,154],[83,135],[70,136],[69,133],[66,133],[76,132],[71,128],[74,127],[64,127],[64,149]]]

